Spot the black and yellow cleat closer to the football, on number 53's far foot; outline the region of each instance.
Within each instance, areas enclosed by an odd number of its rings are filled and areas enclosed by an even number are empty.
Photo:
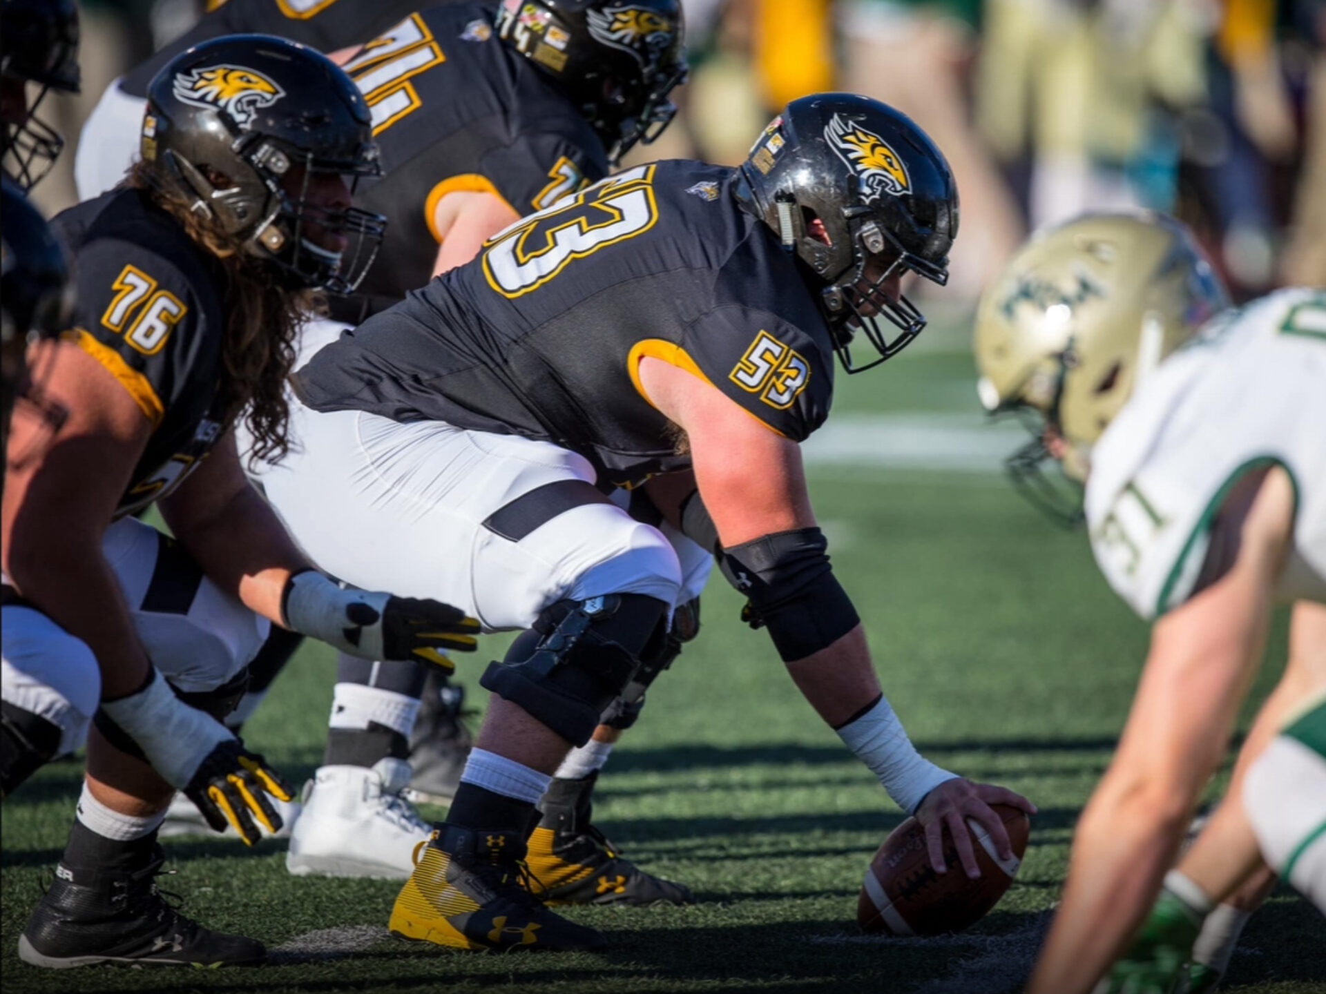
[[[691,904],[690,888],[646,873],[590,824],[598,774],[554,779],[529,839],[530,889],[546,904]]]

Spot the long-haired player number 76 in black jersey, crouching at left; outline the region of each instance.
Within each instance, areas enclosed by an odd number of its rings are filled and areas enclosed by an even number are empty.
[[[310,293],[353,289],[381,237],[346,182],[377,170],[359,91],[310,49],[232,36],[158,74],[141,129],[130,183],[54,221],[77,262],[76,323],[34,354],[68,417],[4,493],[7,717],[54,729],[62,749],[88,734],[78,816],[20,940],[50,967],[263,958],[152,879],[176,789],[248,843],[255,819],[278,827],[267,797],[286,787],[217,721],[268,622],[374,659],[472,648],[477,630],[313,570],[235,445],[243,412],[256,452],[286,448]],[[20,408],[11,448],[34,431]],[[130,517],[152,502],[174,538]]]

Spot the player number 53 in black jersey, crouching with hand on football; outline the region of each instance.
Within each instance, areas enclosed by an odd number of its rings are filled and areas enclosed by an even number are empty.
[[[296,372],[301,472],[272,473],[268,493],[301,543],[338,575],[390,573],[402,592],[528,630],[484,673],[484,728],[395,933],[605,942],[517,880],[562,757],[666,651],[687,579],[678,534],[720,558],[801,692],[926,826],[936,869],[948,831],[979,873],[968,818],[1008,855],[989,804],[1032,804],[912,747],[797,445],[829,414],[835,353],[861,371],[924,327],[899,281],[943,282],[956,232],[952,174],[924,133],[875,101],[808,97],[740,168],[660,162],[597,183]],[[660,525],[613,504],[614,486],[643,486]]]

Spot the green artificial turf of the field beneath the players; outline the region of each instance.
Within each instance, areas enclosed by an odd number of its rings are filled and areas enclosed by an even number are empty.
[[[846,410],[973,403],[961,354],[920,351],[871,376],[871,388],[861,378],[843,388]],[[34,970],[16,942],[68,831],[80,767],[65,762],[4,804],[3,991],[1017,989],[1058,899],[1073,824],[1122,726],[1147,631],[1095,571],[1086,538],[1057,529],[993,474],[827,465],[813,473],[813,496],[886,692],[918,745],[1041,807],[1018,880],[968,933],[858,934],[862,875],[902,815],[798,697],[768,636],[737,620],[740,602],[720,580],[705,594],[700,639],[651,690],[597,804],[599,826],[636,861],[690,884],[696,905],[570,909],[607,932],[614,946],[602,954],[457,953],[386,936],[391,881],[297,880],[285,873],[284,843],[248,852],[196,839],[168,846],[179,875],[162,885],[208,925],[265,941],[273,965]],[[503,645],[491,639],[460,663],[479,705],[477,675]],[[1281,615],[1244,728],[1284,652]],[[332,651],[305,647],[245,732],[290,779],[321,755],[333,676]],[[1248,926],[1227,989],[1326,990],[1326,922],[1281,888]]]

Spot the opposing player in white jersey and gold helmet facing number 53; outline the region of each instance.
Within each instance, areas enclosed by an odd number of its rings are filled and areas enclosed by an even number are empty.
[[[1225,305],[1189,232],[1160,215],[1094,215],[1042,232],[981,305],[983,402],[1042,419],[1018,472],[1058,460],[1085,481],[1097,562],[1154,622],[1118,753],[1077,828],[1037,994],[1091,990],[1162,879],[1164,907],[1139,942],[1171,956],[1106,986],[1170,990],[1207,913],[1258,868],[1249,815],[1277,826],[1269,861],[1285,868],[1301,847],[1297,885],[1314,900],[1326,885],[1319,704],[1260,761],[1269,763],[1260,782],[1274,786],[1245,787],[1258,750],[1326,688],[1326,296],[1282,290]],[[1034,477],[1029,485],[1052,493]],[[1216,864],[1235,868],[1208,891],[1201,839],[1167,871],[1228,746],[1277,599],[1296,603],[1289,668],[1205,828],[1224,840]],[[1195,864],[1199,880],[1185,872]],[[1151,986],[1146,971],[1158,969],[1170,975]]]

